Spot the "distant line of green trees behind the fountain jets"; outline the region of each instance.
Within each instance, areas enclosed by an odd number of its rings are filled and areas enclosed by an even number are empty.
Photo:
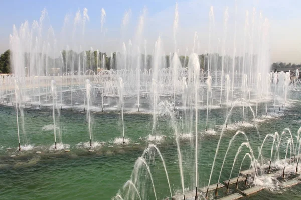
[[[34,57],[34,58],[33,58]],[[173,55],[165,55],[162,57],[162,67],[170,67],[172,64]],[[141,54],[140,58],[140,69],[149,70],[153,66],[153,56]],[[208,70],[210,67],[211,70],[223,70],[228,73],[233,70],[233,59],[232,57],[225,55],[222,57],[218,53],[213,54],[201,54],[198,55],[200,68],[203,70]],[[129,59],[129,60],[128,60]],[[145,60],[146,59],[146,60]],[[252,60],[253,59],[253,60]],[[182,67],[188,67],[189,57],[188,56],[179,56],[180,65]],[[255,55],[251,56],[246,54],[243,58],[242,56],[235,57],[235,66],[234,70],[237,72],[242,72],[241,66],[244,63],[245,71],[248,71],[251,64],[256,65],[257,57]],[[31,74],[30,70],[38,70],[37,66],[43,67],[42,73],[51,73],[52,68],[60,68],[61,73],[68,71],[84,71],[92,70],[97,72],[97,68],[103,69],[118,69],[118,68],[128,68],[128,64],[131,65],[131,68],[136,68],[137,60],[133,57],[124,57],[120,52],[113,52],[111,56],[108,56],[107,53],[102,53],[99,51],[82,51],[75,52],[73,50],[62,50],[60,56],[53,59],[46,54],[39,53],[31,56],[30,53],[24,53],[24,67],[27,69],[27,74]],[[120,66],[120,67],[118,67]],[[277,62],[271,65],[271,70],[281,68],[300,68],[300,65],[286,64],[285,62]],[[41,70],[41,69],[39,69]],[[256,69],[253,69],[256,70]],[[10,61],[10,50],[5,51],[0,55],[0,73],[11,73],[11,61]]]

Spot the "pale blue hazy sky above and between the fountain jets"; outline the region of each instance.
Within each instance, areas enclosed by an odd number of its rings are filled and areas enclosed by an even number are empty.
[[[85,25],[85,34],[89,35],[85,36],[87,46],[106,48],[107,51],[119,49],[121,37],[125,43],[128,39],[134,39],[144,6],[147,8],[147,15],[143,36],[153,46],[158,35],[161,35],[165,51],[169,52],[173,49],[172,31],[176,2],[179,5],[178,48],[191,48],[195,31],[199,33],[200,51],[208,48],[208,12],[211,5],[214,8],[216,37],[223,36],[223,14],[225,7],[229,7],[228,35],[232,37],[235,0],[9,0],[2,2],[0,12],[0,52],[9,48],[9,34],[12,34],[13,24],[17,28],[25,20],[32,24],[33,20],[39,20],[44,8],[48,12],[45,27],[51,25],[56,35],[62,31],[66,14],[70,13],[68,28],[72,29],[77,10],[82,12],[83,8],[87,8],[90,18]],[[253,7],[256,7],[256,13],[262,11],[263,16],[269,19],[271,61],[301,62],[300,0],[237,0],[237,7],[238,32],[243,30],[245,11],[249,10],[251,16]],[[101,8],[106,11],[106,36],[103,38],[100,38]],[[132,13],[129,25],[127,30],[121,30],[124,12],[129,9]],[[67,35],[61,40],[67,41],[69,37]],[[230,41],[229,38],[229,43]]]

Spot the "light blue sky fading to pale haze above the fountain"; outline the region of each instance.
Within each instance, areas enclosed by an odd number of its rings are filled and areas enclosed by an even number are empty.
[[[174,39],[173,23],[175,5],[178,3],[179,23]],[[214,21],[209,18],[210,7],[213,7]],[[235,14],[235,6],[237,12]],[[228,7],[228,20],[225,24],[224,13]],[[89,20],[83,28],[83,9],[87,8]],[[101,30],[101,9],[106,12]],[[255,8],[253,39],[251,40],[252,16]],[[9,0],[2,2],[0,12],[0,53],[10,47],[9,35],[13,34],[13,24],[19,30],[21,23],[39,21],[41,12],[46,9],[43,21],[43,38],[49,43],[49,27],[53,28],[57,48],[99,49],[110,53],[122,51],[122,43],[129,50],[129,39],[133,46],[139,45],[140,51],[146,40],[147,52],[151,53],[155,42],[161,37],[166,54],[179,49],[180,54],[192,52],[194,35],[197,32],[198,53],[205,51],[233,54],[235,21],[237,23],[236,51],[242,52],[244,43],[254,53],[261,48],[259,36],[263,32],[265,18],[268,19],[268,48],[271,62],[301,63],[301,1],[300,0]],[[81,20],[74,25],[76,12],[80,10]],[[143,12],[145,10],[145,12]],[[244,36],[246,10],[249,12],[248,36]],[[127,23],[123,24],[125,12]],[[262,19],[260,20],[260,13]],[[144,23],[139,23],[144,16]],[[66,20],[65,20],[66,19]],[[262,23],[259,23],[261,21]],[[140,24],[140,26],[139,26]],[[142,32],[138,33],[139,27]],[[209,31],[211,27],[211,31]],[[261,31],[260,31],[261,27]],[[258,33],[260,32],[260,34]],[[210,38],[210,40],[209,40]],[[209,42],[210,41],[210,42]],[[223,41],[225,41],[223,44]],[[210,43],[210,44],[209,44]],[[52,44],[50,44],[52,45]]]

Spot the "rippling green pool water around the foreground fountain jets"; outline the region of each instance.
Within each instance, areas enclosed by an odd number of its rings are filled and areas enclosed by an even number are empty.
[[[299,101],[291,101],[284,108],[273,114],[273,106],[269,106],[269,118],[265,118],[265,104],[259,104],[257,123],[259,135],[252,122],[253,114],[250,109],[245,109],[245,123],[248,126],[239,126],[241,121],[242,107],[233,108],[229,120],[229,128],[221,140],[221,146],[213,171],[211,184],[216,183],[225,151],[229,141],[237,130],[244,131],[249,139],[255,157],[258,155],[258,146],[266,134],[279,133],[284,128],[289,127],[292,134],[296,135],[300,127],[300,108]],[[254,109],[254,105],[252,105]],[[116,110],[105,112],[92,112],[93,119],[93,141],[101,143],[95,147],[94,152],[88,152],[81,142],[89,141],[88,124],[86,113],[76,110],[62,110],[60,116],[61,140],[68,144],[70,152],[63,150],[54,151],[52,124],[52,111],[45,107],[40,109],[26,108],[25,132],[21,133],[21,145],[26,142],[33,145],[34,149],[18,153],[18,140],[16,128],[15,109],[10,106],[0,106],[0,198],[1,199],[111,199],[120,189],[120,194],[126,196],[127,189],[122,189],[124,183],[130,179],[135,161],[142,155],[149,141],[147,137],[152,134],[153,118],[147,112],[130,113],[126,111],[124,115],[125,136],[130,139],[127,145],[114,144],[114,139],[121,137],[122,124],[120,113]],[[176,111],[178,129],[181,130],[181,110]],[[224,108],[214,108],[209,113],[209,128],[213,128],[216,133],[204,133],[206,126],[206,110],[199,110],[199,187],[208,184],[209,174],[215,154],[221,127],[224,123],[226,110]],[[50,126],[49,126],[50,125]],[[48,127],[48,128],[47,128]],[[50,128],[49,128],[50,127]],[[232,128],[231,128],[232,127]],[[231,128],[231,129],[230,129]],[[43,130],[44,129],[44,130]],[[166,138],[160,141],[159,147],[167,166],[172,193],[181,191],[181,181],[175,144],[174,130],[171,127],[170,117],[161,115],[158,119],[158,135],[165,135]],[[180,131],[181,132],[181,131]],[[280,145],[280,158],[284,159],[287,139],[286,134]],[[295,136],[294,136],[295,138]],[[58,139],[59,140],[59,139]],[[295,139],[296,140],[296,139]],[[242,135],[237,136],[230,149],[225,163],[221,181],[229,179],[234,156],[239,145],[245,142]],[[184,182],[185,187],[194,188],[194,147],[193,139],[181,139],[181,153],[183,156]],[[272,139],[269,139],[263,147],[265,163],[268,163]],[[12,148],[12,149],[10,149]],[[36,151],[42,151],[36,154]],[[243,148],[234,165],[231,178],[237,176],[239,166],[244,154],[248,152]],[[17,155],[16,157],[10,157]],[[289,155],[288,155],[289,157]],[[156,193],[158,199],[169,196],[167,178],[163,169],[162,162],[158,155],[149,153],[146,159],[152,171]],[[242,170],[248,169],[249,160],[245,160]],[[138,179],[139,191],[143,193],[145,199],[155,199],[149,177],[141,171]],[[143,190],[143,191],[142,191]],[[264,190],[251,199],[298,199],[301,186],[294,186],[285,191],[283,189]],[[234,191],[232,189],[232,191]],[[283,194],[282,194],[283,193]],[[282,194],[282,195],[279,195]],[[223,196],[223,192],[219,192]]]

